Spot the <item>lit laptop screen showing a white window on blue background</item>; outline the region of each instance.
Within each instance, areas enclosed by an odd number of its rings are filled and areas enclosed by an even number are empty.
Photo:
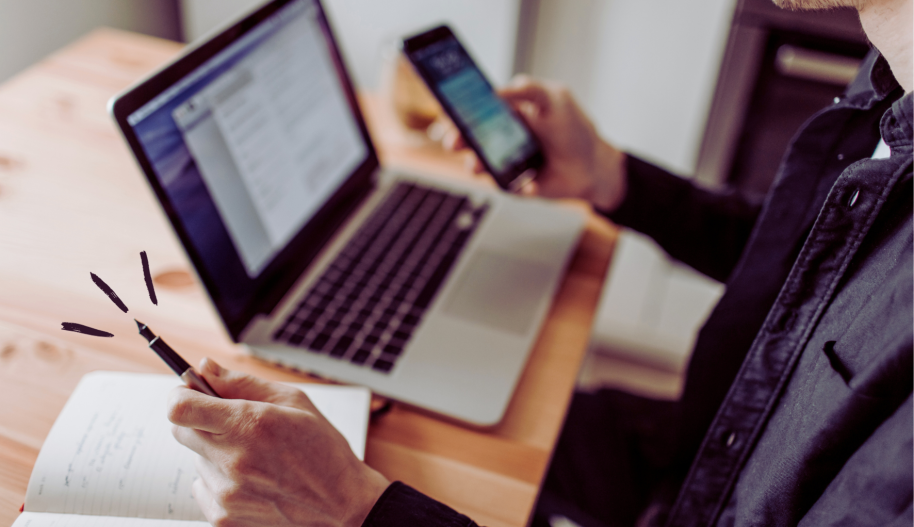
[[[328,205],[374,158],[319,4],[274,4],[212,56],[193,60],[212,53],[204,45],[180,59],[192,63],[180,76],[151,79],[171,77],[126,116],[224,319],[250,315],[264,287],[291,285],[303,269],[295,242],[316,252],[328,214],[341,215]],[[283,251],[299,265],[280,265]]]

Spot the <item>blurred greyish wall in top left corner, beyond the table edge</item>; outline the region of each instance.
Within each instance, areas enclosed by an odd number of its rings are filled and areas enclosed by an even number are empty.
[[[180,38],[176,0],[0,0],[0,82],[98,26]]]

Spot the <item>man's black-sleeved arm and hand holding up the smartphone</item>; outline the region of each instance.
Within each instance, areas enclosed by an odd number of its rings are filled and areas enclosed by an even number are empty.
[[[599,136],[562,85],[521,76],[500,93],[536,134],[546,157],[523,193],[588,201],[613,221],[653,237],[674,258],[717,280],[727,279],[760,202],[701,189],[624,154]],[[456,129],[445,143],[461,146]]]

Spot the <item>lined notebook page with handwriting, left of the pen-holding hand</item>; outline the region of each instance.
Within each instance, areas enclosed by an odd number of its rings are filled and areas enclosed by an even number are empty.
[[[98,516],[200,520],[194,454],[165,417],[176,376],[94,372],[54,422],[29,478],[25,508]]]

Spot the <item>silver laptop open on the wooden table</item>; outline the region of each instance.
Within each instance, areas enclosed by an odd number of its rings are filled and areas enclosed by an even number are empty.
[[[109,110],[233,341],[501,420],[584,215],[382,168],[319,1],[252,11]]]

